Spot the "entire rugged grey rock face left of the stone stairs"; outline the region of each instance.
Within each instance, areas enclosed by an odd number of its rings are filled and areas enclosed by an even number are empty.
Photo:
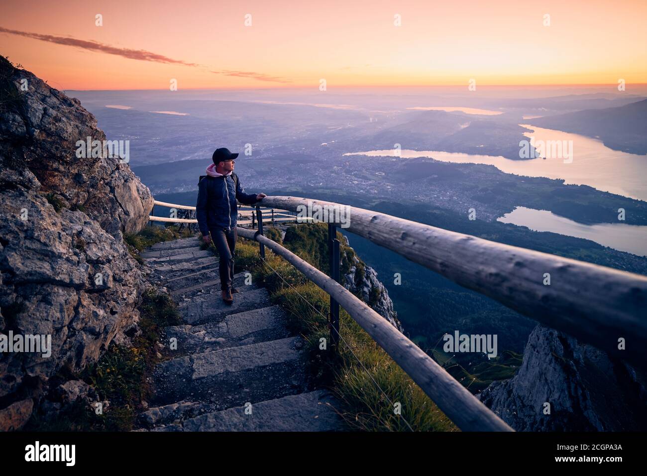
[[[118,157],[79,157],[88,137],[106,139],[78,100],[0,57],[0,337],[51,338],[50,356],[0,354],[0,430],[137,330],[144,280],[122,233],[153,198]]]

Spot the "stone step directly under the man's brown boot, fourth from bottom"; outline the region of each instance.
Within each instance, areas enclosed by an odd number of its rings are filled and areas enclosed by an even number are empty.
[[[191,301],[182,302],[178,308],[187,324],[205,324],[219,321],[228,314],[249,311],[270,306],[270,295],[267,289],[259,288],[245,293],[232,295],[234,302],[226,304],[220,293],[203,298],[194,297]]]

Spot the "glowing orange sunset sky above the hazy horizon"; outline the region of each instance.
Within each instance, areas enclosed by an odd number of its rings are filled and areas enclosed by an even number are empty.
[[[646,0],[7,1],[0,30],[101,45],[0,32],[0,54],[58,89],[168,89],[171,78],[179,89],[623,78],[629,90],[647,83],[645,19]],[[146,52],[173,63],[122,56]]]

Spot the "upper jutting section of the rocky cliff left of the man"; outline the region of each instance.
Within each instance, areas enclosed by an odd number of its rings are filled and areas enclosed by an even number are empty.
[[[0,60],[3,98],[0,154],[28,168],[42,192],[64,207],[81,209],[107,232],[136,232],[153,209],[150,191],[118,157],[93,157],[79,141],[104,144],[104,131],[78,99],[49,87],[34,74]],[[27,91],[21,91],[21,85]],[[6,91],[15,87],[15,91]],[[107,155],[103,153],[102,155]],[[107,150],[106,150],[107,152]],[[85,155],[86,157],[78,157]],[[89,155],[89,156],[88,156]]]

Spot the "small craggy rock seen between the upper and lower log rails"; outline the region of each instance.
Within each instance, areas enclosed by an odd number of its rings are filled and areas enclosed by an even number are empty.
[[[350,247],[348,238],[345,235],[344,243],[347,247]],[[404,332],[404,328],[402,328],[402,324],[398,320],[397,312],[393,310],[393,301],[389,297],[389,292],[384,287],[384,284],[378,280],[375,269],[362,262],[356,255],[353,255],[350,269],[348,273],[342,276],[342,281],[344,288],[369,304],[375,312],[393,324],[397,330]]]

